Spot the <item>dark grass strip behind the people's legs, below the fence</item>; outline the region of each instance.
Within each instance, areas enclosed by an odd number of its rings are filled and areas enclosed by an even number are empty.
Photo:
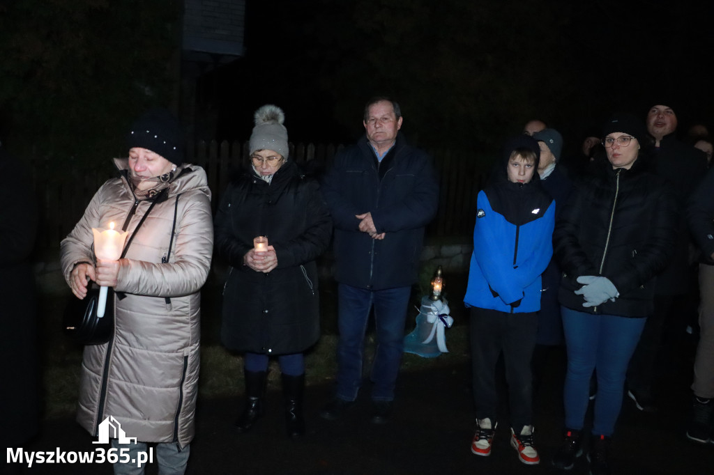
[[[325,292],[327,298],[332,298],[330,292]],[[198,379],[198,395],[203,399],[216,397],[233,397],[243,393],[243,361],[241,355],[228,352],[219,343],[220,312],[216,299],[218,291],[215,288],[204,290],[201,322],[201,375]],[[79,373],[81,367],[82,347],[67,339],[61,328],[62,312],[69,296],[41,297],[40,325],[41,344],[39,346],[43,362],[43,397],[44,416],[48,419],[67,417],[76,410],[79,397]],[[323,306],[331,308],[331,304]],[[408,312],[406,332],[411,332],[418,311],[411,307]],[[418,371],[433,367],[448,367],[468,359],[468,326],[452,310],[455,325],[446,330],[446,345],[450,352],[436,358],[423,358],[416,354],[405,353],[402,360],[402,371]],[[335,325],[333,312],[322,316],[328,320],[330,327],[311,349],[306,352],[306,384],[328,384],[333,381],[337,370],[336,346],[337,336],[330,333]],[[365,372],[371,368],[374,354],[375,339],[373,332],[368,333],[365,342]],[[280,369],[275,358],[271,358],[268,373],[268,389],[280,387]]]

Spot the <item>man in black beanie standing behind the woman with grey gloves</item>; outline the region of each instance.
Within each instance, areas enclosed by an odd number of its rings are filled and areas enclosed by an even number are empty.
[[[705,175],[707,168],[704,153],[677,139],[675,132],[678,121],[673,106],[671,101],[655,103],[646,118],[647,131],[655,139],[653,170],[667,180],[673,189],[680,219],[674,255],[668,267],[657,277],[655,312],[647,320],[628,368],[628,397],[643,412],[657,410],[652,385],[665,326],[672,326],[674,334],[681,334],[687,325],[687,315],[682,312],[686,307],[684,297],[695,283],[692,282],[690,272],[691,240],[684,209],[691,191]]]

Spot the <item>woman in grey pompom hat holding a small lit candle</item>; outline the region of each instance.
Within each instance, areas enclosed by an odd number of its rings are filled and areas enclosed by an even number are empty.
[[[215,219],[218,257],[231,265],[223,290],[221,341],[245,353],[246,407],[236,422],[248,431],[263,414],[268,358],[278,357],[288,435],[305,432],[303,352],[320,337],[316,257],[332,224],[316,180],[288,159],[283,111],[258,109],[251,163],[228,185]],[[267,238],[265,250],[253,239]]]

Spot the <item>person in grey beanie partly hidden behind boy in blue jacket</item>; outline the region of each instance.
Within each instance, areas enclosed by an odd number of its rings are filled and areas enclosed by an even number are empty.
[[[570,179],[558,165],[560,152],[563,150],[563,136],[554,128],[545,128],[534,133],[533,138],[538,141],[540,148],[540,161],[538,162],[540,184],[555,200],[555,219],[557,220],[558,213],[563,209],[563,204],[573,188]],[[558,287],[560,287],[560,266],[553,258],[543,272],[543,291],[540,293],[538,339],[532,359],[533,386],[536,390],[543,378],[543,372],[548,368],[550,350],[564,342]]]

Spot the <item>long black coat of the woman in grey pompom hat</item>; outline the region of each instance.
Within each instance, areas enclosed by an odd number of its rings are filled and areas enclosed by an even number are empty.
[[[221,340],[234,351],[302,352],[320,336],[315,259],[332,223],[318,184],[292,161],[270,184],[250,170],[228,185],[215,219],[218,256],[231,265],[223,290]],[[278,267],[264,274],[243,265],[253,237],[275,247]]]

